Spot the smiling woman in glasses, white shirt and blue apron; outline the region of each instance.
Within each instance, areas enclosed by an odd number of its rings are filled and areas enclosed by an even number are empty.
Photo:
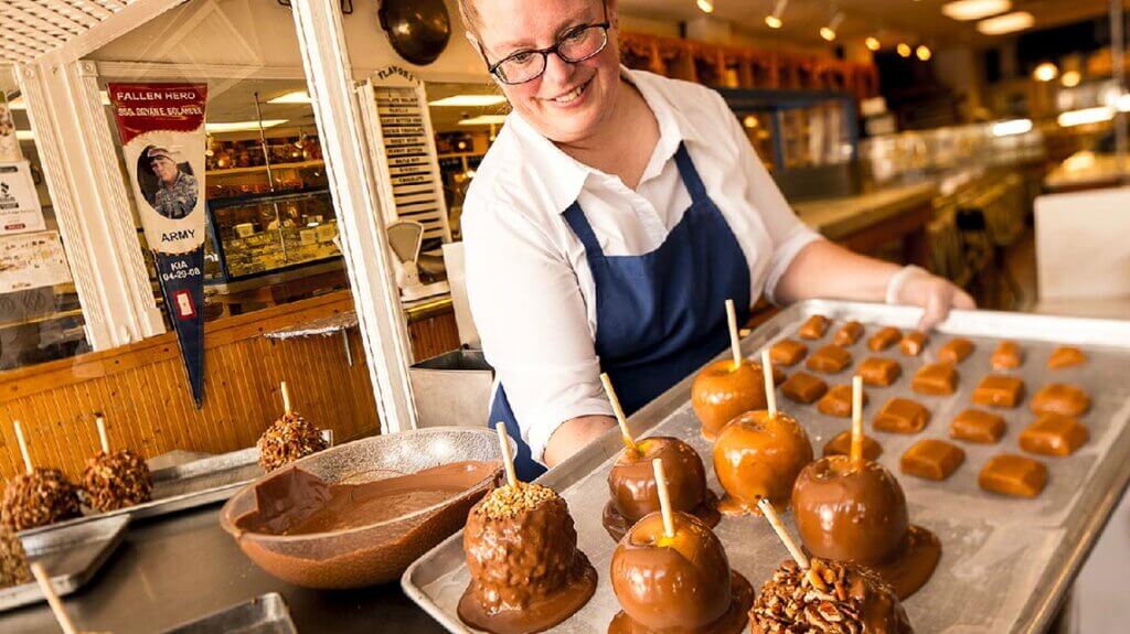
[[[498,377],[490,421],[525,477],[725,349],[765,293],[911,303],[923,327],[973,300],[854,255],[791,211],[709,88],[620,67],[616,0],[460,0],[513,106],[463,206],[467,284]]]

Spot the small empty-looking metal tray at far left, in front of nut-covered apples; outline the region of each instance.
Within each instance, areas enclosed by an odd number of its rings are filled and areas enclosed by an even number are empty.
[[[67,596],[85,585],[122,541],[129,517],[103,518],[36,535],[20,534],[27,558],[43,564],[55,592]],[[37,583],[0,588],[0,611],[43,601]]]

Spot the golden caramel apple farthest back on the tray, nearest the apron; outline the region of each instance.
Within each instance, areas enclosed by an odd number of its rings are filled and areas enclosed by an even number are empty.
[[[702,423],[703,437],[714,440],[719,431],[746,412],[765,408],[765,384],[762,367],[742,360],[715,361],[695,377],[690,403]]]

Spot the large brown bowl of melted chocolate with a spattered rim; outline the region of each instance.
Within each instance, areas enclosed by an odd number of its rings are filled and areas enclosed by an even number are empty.
[[[249,484],[220,526],[259,567],[305,588],[392,581],[459,530],[501,478],[487,428],[428,428],[365,438]]]

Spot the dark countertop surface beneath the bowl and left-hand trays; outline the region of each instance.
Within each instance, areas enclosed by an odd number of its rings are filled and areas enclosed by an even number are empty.
[[[131,526],[123,544],[87,587],[64,598],[76,625],[114,634],[162,632],[268,592],[290,607],[302,634],[443,628],[397,582],[362,590],[306,590],[279,581],[246,558],[219,527],[219,505]],[[59,632],[46,604],[0,613],[0,632]]]

